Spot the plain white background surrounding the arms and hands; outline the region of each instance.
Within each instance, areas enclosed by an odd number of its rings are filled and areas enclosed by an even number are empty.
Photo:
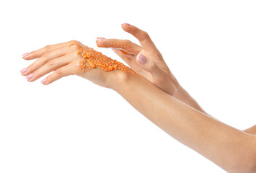
[[[1,1],[0,172],[224,172],[111,89],[77,76],[48,86],[19,74],[23,53],[146,30],[180,84],[235,128],[256,123],[255,1]]]

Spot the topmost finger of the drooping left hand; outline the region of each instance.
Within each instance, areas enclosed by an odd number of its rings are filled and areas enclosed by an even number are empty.
[[[25,60],[32,60],[35,58],[39,58],[39,57],[43,56],[43,54],[48,51],[52,51],[52,50],[56,50],[59,48],[69,46],[72,42],[74,42],[74,41],[69,41],[66,43],[58,43],[56,45],[46,45],[44,48],[40,48],[39,50],[32,51],[31,53],[25,53],[22,58],[24,58]]]

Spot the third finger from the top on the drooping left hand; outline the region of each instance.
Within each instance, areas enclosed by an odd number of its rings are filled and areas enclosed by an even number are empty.
[[[50,73],[51,71],[55,71],[58,68],[61,68],[62,66],[66,66],[71,62],[71,58],[69,55],[67,56],[61,56],[59,58],[55,58],[51,61],[48,61],[48,63],[45,63],[42,67],[38,68],[33,74],[32,78],[30,78],[28,81],[35,81],[38,78],[44,76],[45,74]]]

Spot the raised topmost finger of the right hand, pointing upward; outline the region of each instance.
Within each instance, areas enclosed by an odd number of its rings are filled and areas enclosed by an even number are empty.
[[[130,33],[134,37],[136,37],[139,42],[141,43],[142,48],[144,50],[157,50],[156,46],[154,45],[153,41],[149,37],[149,34],[143,30],[138,29],[138,27],[135,27],[133,25],[129,24],[122,24],[123,30]]]

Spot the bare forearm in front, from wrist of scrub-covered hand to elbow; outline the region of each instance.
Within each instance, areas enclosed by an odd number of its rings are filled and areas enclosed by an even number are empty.
[[[170,136],[227,171],[255,163],[255,136],[185,105],[143,77],[125,75],[113,89]]]

